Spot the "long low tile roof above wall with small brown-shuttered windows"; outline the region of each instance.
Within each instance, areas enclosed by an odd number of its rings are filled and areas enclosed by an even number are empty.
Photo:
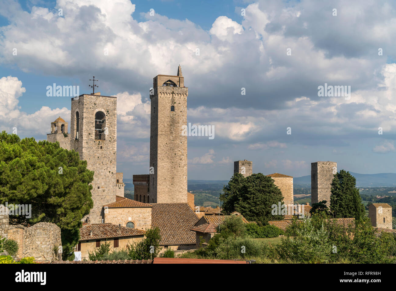
[[[92,236],[91,236],[92,231]],[[140,229],[118,226],[111,223],[94,223],[80,228],[81,240],[98,240],[101,238],[118,238],[124,236],[143,236],[146,232]]]

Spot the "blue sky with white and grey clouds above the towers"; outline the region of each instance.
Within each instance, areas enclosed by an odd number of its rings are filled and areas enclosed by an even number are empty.
[[[0,5],[1,130],[45,139],[51,121],[70,121],[70,98],[48,97],[46,87],[90,93],[95,75],[103,95],[118,97],[117,171],[145,174],[152,78],[181,64],[188,122],[215,127],[213,140],[188,137],[188,179],[229,179],[240,159],[253,161],[253,172],[295,177],[314,161],[395,172],[394,1]],[[319,97],[325,83],[350,86],[350,99]]]

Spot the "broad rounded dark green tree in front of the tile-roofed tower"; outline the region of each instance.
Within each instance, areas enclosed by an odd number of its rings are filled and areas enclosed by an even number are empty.
[[[267,224],[270,220],[280,220],[282,215],[272,215],[271,206],[283,203],[282,192],[271,177],[261,173],[244,177],[236,173],[223,188],[220,200],[224,214],[240,212],[247,220]]]

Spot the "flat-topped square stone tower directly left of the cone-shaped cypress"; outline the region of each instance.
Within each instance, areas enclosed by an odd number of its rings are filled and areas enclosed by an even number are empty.
[[[337,173],[337,163],[335,162],[311,163],[312,204],[326,200],[326,205],[330,206],[331,182],[335,173]]]

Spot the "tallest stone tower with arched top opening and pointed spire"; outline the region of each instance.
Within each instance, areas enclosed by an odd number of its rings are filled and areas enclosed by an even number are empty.
[[[150,203],[187,203],[188,88],[181,67],[176,76],[158,75],[150,92]]]

